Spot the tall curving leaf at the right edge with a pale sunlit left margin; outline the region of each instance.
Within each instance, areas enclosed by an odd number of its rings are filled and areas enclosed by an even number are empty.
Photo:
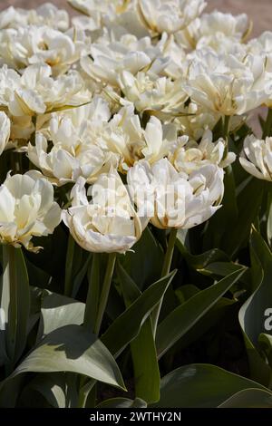
[[[265,329],[266,310],[272,301],[272,255],[267,244],[255,229],[250,237],[251,272],[254,293],[240,308],[239,323],[244,332],[248,352],[251,377],[268,385],[271,380],[271,369],[257,352],[258,336],[267,333]]]

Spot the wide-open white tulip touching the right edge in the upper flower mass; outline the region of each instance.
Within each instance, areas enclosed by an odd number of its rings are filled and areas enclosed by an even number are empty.
[[[189,63],[185,90],[193,102],[221,115],[241,115],[266,102],[272,92],[266,61],[248,54],[243,61],[211,50],[198,52]]]

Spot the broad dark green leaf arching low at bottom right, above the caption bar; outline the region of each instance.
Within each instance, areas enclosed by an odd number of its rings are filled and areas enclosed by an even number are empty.
[[[267,391],[257,382],[209,364],[191,364],[164,376],[160,384],[160,408],[216,408],[244,389]]]

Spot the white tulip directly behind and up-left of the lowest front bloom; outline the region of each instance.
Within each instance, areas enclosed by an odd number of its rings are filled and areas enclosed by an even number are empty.
[[[36,133],[34,145],[28,144],[29,159],[58,186],[75,182],[80,176],[93,182],[102,172],[118,165],[119,157],[96,143],[103,123],[110,117],[111,111],[102,98],[53,114],[49,127]],[[53,142],[50,149],[49,140]]]

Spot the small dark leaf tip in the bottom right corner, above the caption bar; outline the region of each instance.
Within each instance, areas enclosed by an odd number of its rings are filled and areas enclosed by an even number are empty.
[[[219,408],[272,408],[272,393],[268,389],[244,389],[222,402]]]

